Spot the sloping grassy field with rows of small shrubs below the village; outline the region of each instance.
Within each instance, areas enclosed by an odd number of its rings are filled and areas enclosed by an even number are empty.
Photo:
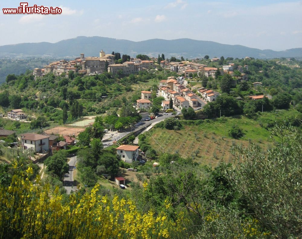
[[[149,132],[153,138],[148,142],[160,155],[165,152],[178,152],[183,157],[192,156],[201,165],[217,166],[220,160],[230,162],[232,155],[229,152],[233,144],[248,146],[251,143],[260,145],[266,150],[272,145],[270,133],[265,127],[274,120],[297,116],[296,110],[278,110],[275,112],[256,113],[252,117],[227,117],[213,120],[182,121],[183,129],[179,131],[153,128]],[[237,125],[243,129],[244,136],[233,139],[229,130]],[[156,142],[159,144],[157,144]]]

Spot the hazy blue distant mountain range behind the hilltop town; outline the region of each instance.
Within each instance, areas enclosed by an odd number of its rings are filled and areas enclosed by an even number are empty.
[[[80,36],[56,43],[20,43],[0,46],[0,57],[51,57],[51,58],[74,58],[80,53],[85,56],[98,56],[99,51],[111,54],[112,51],[128,54],[135,57],[137,54],[146,54],[157,57],[165,54],[165,57],[175,56],[192,59],[210,57],[238,57],[246,56],[254,58],[278,58],[278,57],[302,57],[302,48],[294,48],[285,51],[260,50],[242,45],[220,44],[214,41],[198,41],[188,38],[163,40],[150,39],[146,41],[128,41],[106,37]]]

